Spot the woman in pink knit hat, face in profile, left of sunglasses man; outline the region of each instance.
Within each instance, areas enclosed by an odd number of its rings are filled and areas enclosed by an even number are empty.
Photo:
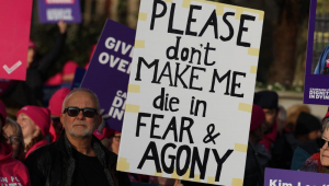
[[[18,112],[16,117],[22,127],[26,159],[31,152],[49,143],[46,136],[49,133],[50,112],[44,107],[27,105]]]

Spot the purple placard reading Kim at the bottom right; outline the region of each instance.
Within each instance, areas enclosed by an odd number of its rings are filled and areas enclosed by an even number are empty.
[[[328,174],[265,168],[264,186],[327,186]]]

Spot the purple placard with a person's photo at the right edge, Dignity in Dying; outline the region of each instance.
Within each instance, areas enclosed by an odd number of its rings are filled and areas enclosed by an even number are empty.
[[[316,7],[317,0],[310,0],[304,103],[329,105],[329,45],[315,44],[328,31],[320,31],[321,26],[315,25]]]

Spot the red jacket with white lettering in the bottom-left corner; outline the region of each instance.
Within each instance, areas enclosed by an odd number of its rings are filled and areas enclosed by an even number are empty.
[[[11,146],[0,142],[0,185],[31,186],[26,166],[11,155]]]

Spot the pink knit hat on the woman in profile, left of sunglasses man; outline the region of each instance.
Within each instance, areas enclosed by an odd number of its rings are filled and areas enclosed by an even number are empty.
[[[16,117],[19,117],[21,113],[26,114],[41,129],[44,136],[48,135],[50,126],[49,109],[39,106],[27,105],[18,112]]]

